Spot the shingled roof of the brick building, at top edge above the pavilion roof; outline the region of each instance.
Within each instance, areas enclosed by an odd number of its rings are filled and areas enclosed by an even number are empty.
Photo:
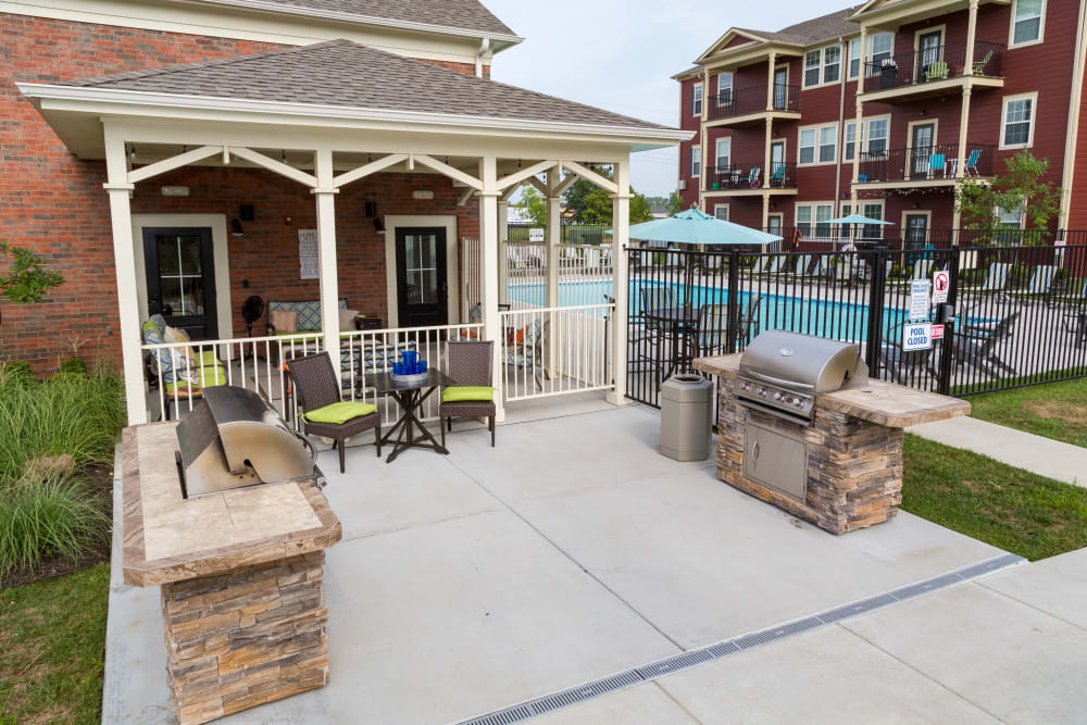
[[[232,0],[209,1],[232,4]],[[361,22],[379,18],[461,30],[515,35],[478,0],[266,0],[265,4],[283,5],[303,12],[354,15]]]

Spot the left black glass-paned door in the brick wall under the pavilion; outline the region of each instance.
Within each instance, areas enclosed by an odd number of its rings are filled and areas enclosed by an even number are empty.
[[[145,228],[148,314],[195,340],[218,336],[211,229]]]

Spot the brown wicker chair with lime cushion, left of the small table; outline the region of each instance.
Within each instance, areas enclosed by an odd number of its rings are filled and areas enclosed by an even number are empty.
[[[374,443],[377,455],[382,455],[382,416],[373,405],[360,410],[373,409],[343,423],[317,423],[308,420],[308,415],[335,403],[343,402],[336,371],[333,370],[332,358],[327,352],[304,358],[295,358],[286,363],[287,372],[293,382],[298,404],[304,414],[301,416],[307,435],[333,439],[333,448],[339,450],[340,473],[346,473],[343,463],[345,441],[361,433],[374,430]],[[362,403],[360,403],[361,405]]]

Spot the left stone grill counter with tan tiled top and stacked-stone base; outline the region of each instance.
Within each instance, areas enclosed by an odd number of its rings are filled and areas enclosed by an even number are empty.
[[[322,572],[341,530],[316,480],[185,499],[176,423],[126,428],[122,447],[124,578],[162,587],[180,722],[326,685]]]

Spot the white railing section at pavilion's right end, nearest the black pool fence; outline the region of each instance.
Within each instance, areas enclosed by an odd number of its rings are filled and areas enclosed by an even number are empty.
[[[608,340],[614,312],[614,303],[502,312],[504,400],[614,387]]]

